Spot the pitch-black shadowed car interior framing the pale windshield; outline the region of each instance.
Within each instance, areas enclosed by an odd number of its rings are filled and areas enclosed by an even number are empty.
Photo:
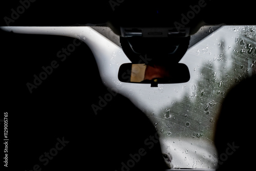
[[[189,80],[187,67],[179,61],[189,47],[190,35],[202,26],[256,24],[253,3],[229,0],[27,0],[5,2],[0,11],[1,26],[109,27],[120,37],[117,44],[131,60],[120,68],[120,73],[132,65],[145,64],[158,66],[167,74],[178,74],[175,78],[159,74],[139,80],[151,87]],[[7,169],[169,169],[154,125],[129,99],[110,92],[101,81],[93,53],[86,44],[81,43],[74,52],[66,54],[65,61],[55,65],[56,69],[45,81],[38,82],[31,93],[26,83],[33,81],[33,73],[39,74],[42,66],[53,66],[51,61],[60,60],[57,52],[74,39],[3,30],[0,35],[2,106],[8,112],[10,127]],[[146,55],[148,62],[141,60],[141,55]],[[173,70],[166,70],[166,63],[172,63]],[[119,78],[134,83],[130,78]],[[224,100],[215,143],[219,154],[226,154],[227,147],[233,149],[228,153],[236,152],[228,159],[222,155],[223,164],[219,162],[217,170],[253,168],[255,86],[255,76],[241,81]],[[92,104],[108,93],[114,94],[113,99],[95,115]],[[148,147],[150,150],[145,150]],[[201,170],[204,169],[209,170]]]

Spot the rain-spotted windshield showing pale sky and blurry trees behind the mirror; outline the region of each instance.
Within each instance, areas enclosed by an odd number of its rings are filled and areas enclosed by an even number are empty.
[[[256,27],[223,26],[218,29],[202,27],[198,33],[191,36],[189,49],[180,60],[180,63],[188,67],[190,80],[174,84],[159,83],[158,87],[151,87],[150,84],[121,82],[118,79],[118,70],[123,63],[131,61],[125,56],[120,45],[113,41],[115,39],[119,42],[117,35],[113,35],[114,38],[110,37],[112,38],[110,40],[109,37],[102,36],[104,32],[110,30],[109,28],[99,27],[98,30],[101,30],[101,33],[95,28],[11,27],[2,29],[7,31],[10,29],[9,31],[14,33],[74,37],[76,39],[67,46],[69,52],[73,52],[78,46],[77,40],[85,42],[95,57],[104,86],[108,87],[108,93],[97,96],[97,102],[90,104],[95,115],[114,99],[116,93],[119,93],[130,99],[154,124],[159,134],[161,151],[172,155],[174,167],[217,168],[219,155],[214,143],[216,123],[223,100],[229,90],[256,73]],[[200,38],[202,35],[203,39]],[[59,60],[68,55],[58,54],[56,56],[60,58]],[[147,60],[147,56],[140,57],[142,61]],[[56,68],[57,63],[53,61],[55,60],[52,60],[51,67]],[[45,67],[42,69],[50,72]],[[46,74],[39,76],[46,79],[44,77]],[[90,86],[91,90],[93,83]],[[28,91],[27,88],[31,88],[24,87],[26,91]],[[101,113],[101,115],[107,114]],[[103,127],[102,130],[104,129]],[[118,167],[120,168],[120,165]]]

